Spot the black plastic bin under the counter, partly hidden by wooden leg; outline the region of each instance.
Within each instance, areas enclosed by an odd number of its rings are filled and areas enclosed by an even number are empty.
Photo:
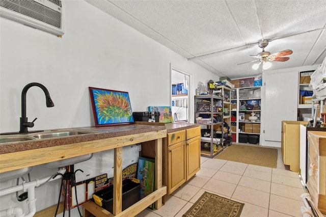
[[[140,183],[130,179],[122,181],[122,211],[139,201]],[[96,192],[93,195],[94,202],[113,213],[113,185]]]

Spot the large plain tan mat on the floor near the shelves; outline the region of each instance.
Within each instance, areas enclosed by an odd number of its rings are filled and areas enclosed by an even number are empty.
[[[233,144],[214,158],[276,168],[277,149]]]

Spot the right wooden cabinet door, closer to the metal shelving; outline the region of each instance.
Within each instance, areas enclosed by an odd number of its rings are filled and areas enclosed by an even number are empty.
[[[186,141],[186,180],[200,170],[200,137]]]

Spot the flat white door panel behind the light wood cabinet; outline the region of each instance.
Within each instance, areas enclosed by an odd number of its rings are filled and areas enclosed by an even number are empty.
[[[296,121],[298,72],[265,73],[265,140],[281,142],[282,121]]]

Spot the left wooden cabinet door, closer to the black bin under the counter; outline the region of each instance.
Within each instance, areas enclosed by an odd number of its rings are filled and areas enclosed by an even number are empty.
[[[185,172],[185,141],[182,141],[168,147],[168,195],[185,182]]]

